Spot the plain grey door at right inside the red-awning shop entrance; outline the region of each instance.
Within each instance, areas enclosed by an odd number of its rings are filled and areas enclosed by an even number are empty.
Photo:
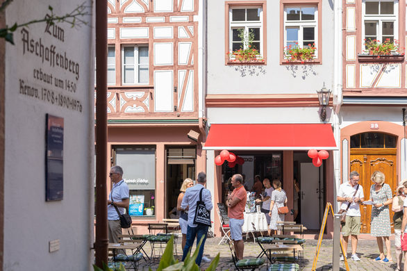
[[[307,229],[319,229],[319,167],[301,163],[301,224]]]

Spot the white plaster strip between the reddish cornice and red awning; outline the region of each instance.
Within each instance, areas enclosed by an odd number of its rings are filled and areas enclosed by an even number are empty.
[[[208,108],[209,124],[320,123],[319,108]],[[326,121],[331,117],[326,108]]]

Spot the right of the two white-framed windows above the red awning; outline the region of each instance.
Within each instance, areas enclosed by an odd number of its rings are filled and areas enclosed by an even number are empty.
[[[284,47],[316,47],[318,52],[317,6],[284,7]],[[315,44],[315,45],[314,45]]]

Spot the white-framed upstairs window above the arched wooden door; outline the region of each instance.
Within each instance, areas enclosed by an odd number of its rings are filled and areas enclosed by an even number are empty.
[[[397,40],[397,0],[363,1],[364,40]]]

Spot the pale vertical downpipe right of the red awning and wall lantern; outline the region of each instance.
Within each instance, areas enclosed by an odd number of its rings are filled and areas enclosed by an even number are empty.
[[[338,150],[333,151],[333,174],[335,185],[333,190],[333,201],[336,202],[337,191],[340,186],[340,107],[342,106],[342,0],[333,2],[334,10],[334,42],[333,51],[333,134]],[[339,205],[332,204],[335,213],[339,210]]]

